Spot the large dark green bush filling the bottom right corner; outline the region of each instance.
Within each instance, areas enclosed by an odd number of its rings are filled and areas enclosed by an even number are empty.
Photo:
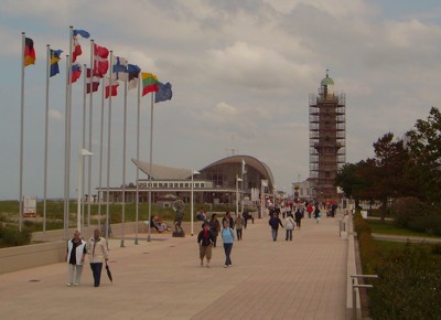
[[[395,250],[377,260],[369,290],[373,319],[440,319],[441,258],[422,246]]]

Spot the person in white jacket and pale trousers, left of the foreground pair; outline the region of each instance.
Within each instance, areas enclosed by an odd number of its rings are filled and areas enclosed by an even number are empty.
[[[82,281],[84,258],[86,257],[86,242],[80,238],[79,231],[74,232],[74,237],[67,241],[66,257],[69,280],[67,287],[78,286]],[[74,282],[75,274],[75,282]]]

